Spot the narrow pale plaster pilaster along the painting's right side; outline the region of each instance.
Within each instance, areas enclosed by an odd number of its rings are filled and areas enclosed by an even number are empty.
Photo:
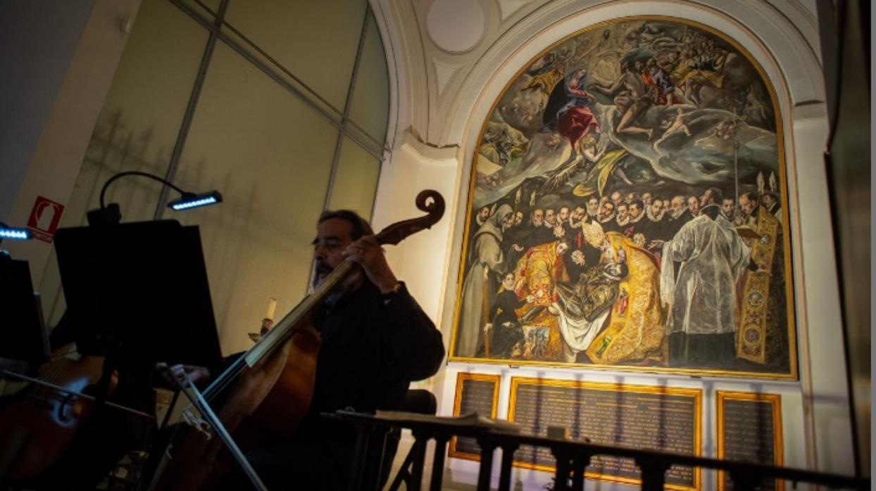
[[[825,115],[826,107],[822,104],[795,110],[797,155],[822,154],[827,137]],[[812,414],[806,422],[807,431],[815,435],[816,468],[853,473],[839,285],[824,165],[816,162],[798,165],[795,178],[797,200],[795,210],[791,211],[797,212],[800,228],[800,242],[794,244],[799,251],[795,256],[795,273],[802,270],[802,276],[797,277],[803,279],[797,298],[798,303],[805,305],[806,323],[801,330],[808,327],[799,336],[803,407]]]

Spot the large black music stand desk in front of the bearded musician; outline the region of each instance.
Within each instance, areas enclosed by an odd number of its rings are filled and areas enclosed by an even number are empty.
[[[142,221],[61,228],[61,284],[82,354],[215,367],[222,362],[197,227]]]

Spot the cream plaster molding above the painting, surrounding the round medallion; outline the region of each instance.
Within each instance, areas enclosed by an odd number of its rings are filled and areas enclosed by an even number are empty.
[[[399,77],[399,84],[407,87],[399,88],[404,107],[397,128],[410,127],[436,147],[461,144],[470,119],[484,117],[476,107],[491,105],[526,61],[563,36],[610,18],[666,15],[710,25],[755,53],[776,89],[788,86],[792,104],[824,97],[816,19],[801,0],[470,0],[483,10],[484,27],[466,53],[448,53],[429,39],[426,17],[434,2],[371,1],[392,11],[399,24],[390,32],[399,47],[394,56],[403,57],[398,65],[405,80]],[[450,0],[436,0],[444,1]]]

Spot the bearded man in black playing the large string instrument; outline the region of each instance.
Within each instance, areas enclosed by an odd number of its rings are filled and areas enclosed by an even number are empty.
[[[246,456],[271,489],[347,487],[355,429],[321,412],[396,409],[409,382],[434,375],[444,358],[442,334],[399,282],[367,221],[349,210],[327,211],[314,239],[314,286],[343,261],[362,266],[314,312],[321,335],[313,399],[292,438],[257,445]],[[197,382],[204,368],[175,366]],[[293,402],[290,402],[293,403]],[[248,488],[243,473],[223,480]]]

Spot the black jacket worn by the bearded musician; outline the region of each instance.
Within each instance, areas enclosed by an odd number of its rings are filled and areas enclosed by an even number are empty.
[[[404,284],[384,298],[365,281],[329,304],[313,319],[322,344],[304,432],[325,426],[321,412],[396,409],[408,383],[434,375],[444,359],[441,332]]]

